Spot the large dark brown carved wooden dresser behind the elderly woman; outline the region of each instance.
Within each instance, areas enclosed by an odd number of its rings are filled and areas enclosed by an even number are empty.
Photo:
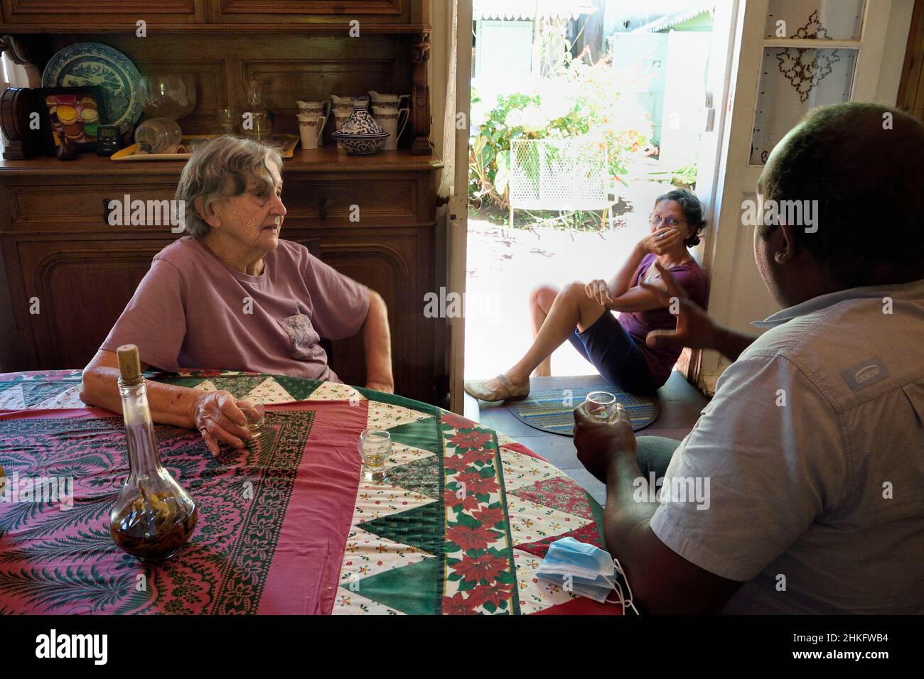
[[[187,134],[214,132],[221,106],[242,107],[248,79],[264,82],[275,129],[293,134],[297,99],[410,93],[410,123],[397,151],[347,155],[330,139],[329,121],[322,148],[299,146],[286,160],[282,237],[316,251],[320,241],[323,261],[383,296],[395,391],[432,403],[444,380],[433,348],[441,321],[423,316],[423,298],[444,285],[434,266],[443,257],[436,237],[443,164],[429,142],[428,6],[426,0],[97,0],[91,6],[0,0],[0,31],[40,70],[67,44],[93,41],[128,55],[142,75],[192,73],[198,103],[179,121]],[[135,34],[140,18],[147,21],[145,38]],[[359,38],[348,34],[353,19]],[[172,199],[182,167],[93,153],[72,162],[47,156],[0,162],[0,250],[20,357],[8,370],[86,365],[154,254],[183,236],[169,225],[112,226],[106,206],[125,194]],[[333,366],[345,382],[363,382],[361,337],[334,342]]]

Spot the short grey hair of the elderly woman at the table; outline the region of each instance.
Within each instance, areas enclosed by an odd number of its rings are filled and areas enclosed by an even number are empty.
[[[279,172],[283,158],[273,147],[253,139],[222,135],[197,146],[176,185],[174,199],[182,200],[184,221],[190,236],[205,236],[212,227],[202,218],[216,200],[239,196],[248,188],[276,188],[272,164]],[[196,200],[201,199],[201,212]]]

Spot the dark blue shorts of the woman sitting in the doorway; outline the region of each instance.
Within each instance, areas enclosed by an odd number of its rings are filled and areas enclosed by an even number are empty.
[[[575,332],[568,341],[587,358],[601,376],[631,394],[654,394],[657,385],[651,379],[648,361],[632,335],[610,311],[583,333]]]

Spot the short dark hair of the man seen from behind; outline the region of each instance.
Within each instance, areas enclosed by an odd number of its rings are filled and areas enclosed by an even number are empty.
[[[765,200],[818,200],[818,230],[794,238],[838,284],[924,277],[924,125],[911,115],[880,103],[816,108],[761,189]],[[759,228],[766,237],[774,226]]]

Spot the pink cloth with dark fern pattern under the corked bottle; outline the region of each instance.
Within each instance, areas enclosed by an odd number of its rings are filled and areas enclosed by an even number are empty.
[[[341,401],[268,408],[257,443],[217,459],[197,432],[157,426],[164,467],[199,518],[182,558],[152,565],[109,534],[128,473],[121,418],[97,408],[0,414],[7,478],[73,479],[72,508],[3,507],[0,612],[330,612],[365,418],[364,404]]]

